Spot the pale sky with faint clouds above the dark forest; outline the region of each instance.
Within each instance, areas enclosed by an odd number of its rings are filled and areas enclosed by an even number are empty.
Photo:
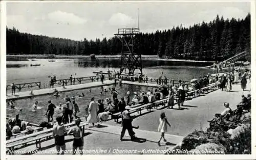
[[[245,18],[250,3],[60,2],[7,3],[7,26],[20,32],[73,40],[113,37],[118,28],[154,32],[212,21],[217,14]]]

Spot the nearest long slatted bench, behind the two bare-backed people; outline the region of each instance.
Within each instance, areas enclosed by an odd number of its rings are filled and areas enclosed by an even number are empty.
[[[74,126],[74,125],[75,125],[75,123],[72,122],[72,123],[66,124],[65,127],[71,127],[71,126]],[[84,130],[85,130],[86,125],[88,125],[87,122],[81,122],[81,124],[80,124],[80,127],[82,127],[82,134],[84,134]],[[46,129],[46,130],[43,130],[43,131],[35,132],[34,134],[30,134],[30,135],[27,135],[27,136],[23,136],[23,137],[19,137],[19,138],[16,138],[16,139],[8,140],[8,141],[6,141],[6,148],[8,148],[9,153],[11,153],[10,151],[14,150],[14,147],[19,146],[19,145],[26,146],[27,143],[30,143],[30,142],[33,142],[33,141],[35,141],[36,147],[40,148],[42,139],[46,138],[46,140],[49,140],[53,137],[52,129],[53,128],[50,128],[50,129]],[[68,128],[67,130],[69,130],[69,129],[71,129],[71,128]],[[41,136],[39,136],[39,135],[41,135]],[[29,139],[29,138],[32,138],[32,139]],[[21,142],[18,142],[18,141],[21,141]],[[18,143],[14,143],[14,142],[18,142]]]

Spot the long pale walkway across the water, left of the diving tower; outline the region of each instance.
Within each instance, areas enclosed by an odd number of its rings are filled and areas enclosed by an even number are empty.
[[[101,82],[92,82],[92,83],[87,83],[87,84],[65,86],[65,89],[63,87],[55,87],[55,88],[33,90],[33,95],[30,95],[31,91],[17,92],[15,95],[7,94],[6,100],[16,100],[16,99],[30,98],[30,97],[34,97],[34,96],[40,96],[40,95],[53,94],[54,89],[57,89],[58,92],[68,92],[68,91],[73,91],[73,90],[89,89],[89,88],[95,88],[95,87],[101,87],[101,86],[109,86],[109,85],[114,85],[114,84],[115,84],[115,81],[106,80],[106,81],[104,81],[103,84]]]

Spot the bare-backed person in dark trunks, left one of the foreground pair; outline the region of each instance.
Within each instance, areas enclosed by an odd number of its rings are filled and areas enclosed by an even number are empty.
[[[57,124],[53,126],[53,138],[55,139],[55,145],[57,149],[57,154],[64,154],[66,150],[65,144],[65,132],[67,132],[64,124],[62,123],[62,117],[56,118]],[[62,149],[60,151],[60,148]]]

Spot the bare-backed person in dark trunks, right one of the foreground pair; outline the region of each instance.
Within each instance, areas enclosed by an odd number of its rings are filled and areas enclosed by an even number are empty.
[[[82,155],[83,153],[83,137],[82,137],[82,131],[80,128],[80,119],[75,120],[76,126],[75,128],[72,128],[68,131],[68,135],[71,135],[73,133],[74,141],[73,141],[73,155],[76,154],[77,148],[79,148],[79,153]]]

